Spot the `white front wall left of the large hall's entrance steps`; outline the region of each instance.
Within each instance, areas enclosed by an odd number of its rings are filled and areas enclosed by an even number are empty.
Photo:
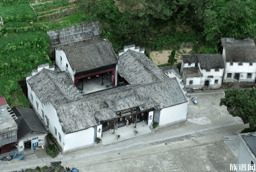
[[[64,136],[63,151],[94,143],[94,128],[73,132]]]

